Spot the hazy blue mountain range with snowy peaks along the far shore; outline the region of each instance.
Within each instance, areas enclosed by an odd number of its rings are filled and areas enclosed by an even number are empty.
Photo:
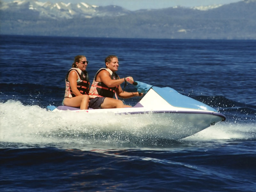
[[[129,11],[36,0],[0,2],[0,34],[125,38],[256,39],[256,0]],[[80,30],[74,30],[79,28]]]

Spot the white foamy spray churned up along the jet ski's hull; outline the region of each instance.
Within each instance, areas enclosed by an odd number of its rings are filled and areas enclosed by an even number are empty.
[[[37,105],[9,100],[0,103],[0,140],[24,144],[63,144],[99,146],[166,146],[176,143],[161,136],[162,127],[154,119],[136,119],[115,114],[52,113]],[[102,123],[105,122],[105,123]],[[164,122],[162,122],[164,123]],[[171,126],[170,126],[171,128]],[[254,140],[254,122],[225,121],[183,141]],[[182,141],[182,140],[181,140]],[[180,140],[178,141],[180,142]],[[81,147],[81,146],[80,146]]]

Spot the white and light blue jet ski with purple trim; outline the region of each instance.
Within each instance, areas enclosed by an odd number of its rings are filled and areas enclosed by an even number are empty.
[[[144,93],[143,98],[131,108],[87,109],[68,106],[47,106],[48,111],[72,112],[85,111],[103,116],[108,113],[115,115],[128,115],[129,121],[141,119],[151,122],[147,126],[157,129],[161,127],[160,136],[163,138],[182,139],[200,132],[212,125],[225,121],[226,117],[216,109],[188,96],[182,95],[170,87],[156,87],[140,81],[133,85],[138,92]]]

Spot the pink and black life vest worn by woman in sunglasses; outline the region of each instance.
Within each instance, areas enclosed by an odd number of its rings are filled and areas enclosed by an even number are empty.
[[[76,81],[77,89],[82,95],[88,95],[90,90],[90,80],[87,71],[82,71],[79,68],[71,68],[69,69],[65,81],[66,81],[66,90],[65,90],[65,98],[71,98],[76,97],[76,95],[72,92],[69,81],[68,81],[68,75],[69,73],[75,70],[78,76],[78,79]]]

